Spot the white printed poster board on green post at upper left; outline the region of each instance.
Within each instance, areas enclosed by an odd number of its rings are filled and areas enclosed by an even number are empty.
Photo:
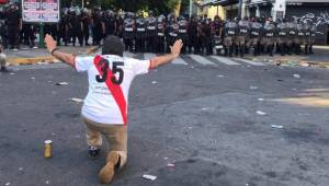
[[[24,22],[58,23],[59,0],[22,0]]]

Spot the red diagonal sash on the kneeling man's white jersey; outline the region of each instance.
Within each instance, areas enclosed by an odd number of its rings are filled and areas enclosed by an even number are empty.
[[[95,56],[93,59],[93,63],[95,68],[98,69],[99,73],[102,75],[102,66],[99,66],[99,62],[101,61],[102,57],[101,56]],[[112,70],[109,68],[107,69],[107,75],[109,78],[106,79],[105,83],[107,85],[109,91],[112,93],[117,106],[120,107],[121,115],[124,121],[124,125],[127,124],[127,103],[125,100],[125,96],[123,94],[123,91],[118,84],[114,84],[111,81],[111,77],[115,77],[112,73]]]

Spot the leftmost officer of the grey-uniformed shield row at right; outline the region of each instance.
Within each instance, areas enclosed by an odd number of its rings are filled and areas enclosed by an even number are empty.
[[[225,24],[225,38],[224,38],[225,56],[229,55],[229,57],[232,57],[237,27],[238,27],[237,23],[234,21],[228,21]]]

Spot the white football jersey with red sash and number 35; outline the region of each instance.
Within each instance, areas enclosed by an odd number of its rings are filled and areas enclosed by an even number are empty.
[[[109,125],[126,125],[131,83],[138,74],[147,73],[149,60],[120,56],[77,57],[76,69],[88,71],[89,92],[82,116]]]

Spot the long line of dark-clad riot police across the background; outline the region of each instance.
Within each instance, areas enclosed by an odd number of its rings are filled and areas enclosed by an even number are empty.
[[[18,48],[20,43],[34,47],[37,26],[23,23],[19,9],[10,7],[1,26],[4,47]],[[2,28],[5,27],[7,28]],[[64,9],[58,24],[47,24],[45,33],[57,39],[58,45],[101,45],[107,35],[123,38],[126,50],[133,53],[166,53],[174,40],[184,43],[182,53],[197,55],[241,56],[253,49],[253,55],[313,54],[316,26],[311,22],[285,19],[273,22],[271,18],[245,18],[229,21],[218,15],[214,20],[203,16],[147,18],[126,12],[116,14],[111,10]],[[92,43],[89,43],[89,38]],[[8,42],[5,42],[8,38]]]

